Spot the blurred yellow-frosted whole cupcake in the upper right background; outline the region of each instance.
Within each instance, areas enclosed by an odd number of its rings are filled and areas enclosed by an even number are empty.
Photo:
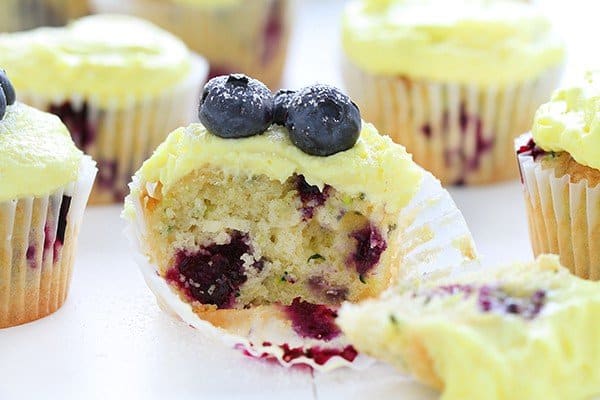
[[[513,140],[564,61],[548,20],[510,0],[354,0],[342,38],[350,95],[444,184],[517,176]]]

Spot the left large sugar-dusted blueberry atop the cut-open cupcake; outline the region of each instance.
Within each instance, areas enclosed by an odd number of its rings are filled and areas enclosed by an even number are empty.
[[[273,95],[263,83],[246,75],[218,76],[204,86],[198,116],[219,137],[257,135],[273,122]]]

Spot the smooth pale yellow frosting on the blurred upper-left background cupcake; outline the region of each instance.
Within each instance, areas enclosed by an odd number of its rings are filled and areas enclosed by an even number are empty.
[[[51,99],[82,96],[101,105],[129,104],[184,80],[190,63],[181,40],[123,15],[0,35],[0,65],[17,92]]]

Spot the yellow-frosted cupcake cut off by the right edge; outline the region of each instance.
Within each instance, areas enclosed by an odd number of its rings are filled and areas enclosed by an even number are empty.
[[[600,72],[557,90],[516,141],[533,252],[600,279]]]

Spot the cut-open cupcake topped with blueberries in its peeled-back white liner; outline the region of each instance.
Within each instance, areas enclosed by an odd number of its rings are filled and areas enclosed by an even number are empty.
[[[254,79],[222,76],[199,117],[158,147],[125,201],[148,284],[165,308],[253,355],[353,362],[336,310],[377,296],[408,265],[403,246],[435,236],[406,240],[418,212],[401,218],[433,178],[330,86],[273,98]],[[424,201],[447,204],[437,196]],[[457,220],[441,214],[446,228]]]

